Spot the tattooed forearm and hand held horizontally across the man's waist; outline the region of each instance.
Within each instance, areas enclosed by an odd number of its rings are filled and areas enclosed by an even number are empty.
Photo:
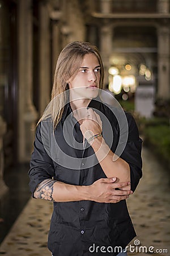
[[[37,186],[34,196],[56,202],[91,200],[98,203],[117,203],[127,199],[132,191],[130,189],[121,191],[122,188],[126,188],[130,184],[129,182],[116,183],[115,181],[115,177],[103,178],[96,180],[91,185],[82,186],[46,179]]]

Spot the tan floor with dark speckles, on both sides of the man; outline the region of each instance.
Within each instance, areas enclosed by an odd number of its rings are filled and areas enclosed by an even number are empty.
[[[128,250],[128,255],[145,256],[150,254],[151,248],[156,256],[170,256],[170,175],[159,163],[159,158],[145,147],[142,156],[143,178],[137,191],[127,200],[137,232],[137,237],[130,242],[134,248]],[[50,256],[46,241],[51,215],[51,202],[30,199],[1,243],[0,255]]]

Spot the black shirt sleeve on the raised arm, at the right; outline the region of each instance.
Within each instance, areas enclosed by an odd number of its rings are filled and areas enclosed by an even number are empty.
[[[142,177],[142,139],[139,138],[138,127],[133,116],[130,113],[126,113],[126,117],[128,120],[129,134],[121,158],[130,166],[131,190],[135,191]]]

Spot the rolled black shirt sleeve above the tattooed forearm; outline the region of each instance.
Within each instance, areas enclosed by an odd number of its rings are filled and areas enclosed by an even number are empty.
[[[52,179],[54,176],[53,160],[46,152],[41,138],[41,123],[37,126],[35,134],[33,153],[30,161],[29,188],[33,193],[38,184],[45,179]]]

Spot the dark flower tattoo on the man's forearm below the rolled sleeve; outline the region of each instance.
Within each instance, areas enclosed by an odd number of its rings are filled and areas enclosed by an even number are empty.
[[[35,198],[45,199],[49,201],[54,201],[53,199],[53,185],[56,183],[56,180],[46,179],[43,180],[36,188],[33,193]]]

